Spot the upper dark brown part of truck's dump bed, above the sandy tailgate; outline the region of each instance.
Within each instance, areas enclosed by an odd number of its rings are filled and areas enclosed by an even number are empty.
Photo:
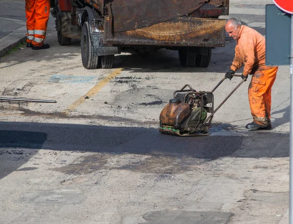
[[[114,32],[143,28],[182,16],[217,18],[228,15],[229,0],[84,0],[108,15]]]

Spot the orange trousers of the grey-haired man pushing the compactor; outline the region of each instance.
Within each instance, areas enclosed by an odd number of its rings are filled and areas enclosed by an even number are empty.
[[[248,98],[253,121],[260,125],[271,122],[272,84],[276,79],[278,67],[256,71],[248,88]]]

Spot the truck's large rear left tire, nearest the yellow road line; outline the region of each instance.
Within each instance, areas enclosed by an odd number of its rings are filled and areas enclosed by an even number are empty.
[[[82,61],[83,61],[84,68],[86,69],[97,68],[99,56],[95,56],[94,54],[95,49],[90,39],[88,22],[84,22],[84,25],[83,25],[81,50],[82,50]]]

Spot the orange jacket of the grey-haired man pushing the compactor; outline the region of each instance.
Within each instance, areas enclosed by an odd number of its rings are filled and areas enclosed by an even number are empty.
[[[266,39],[256,30],[242,25],[236,41],[235,57],[231,65],[233,71],[244,64],[243,75],[252,75],[257,70],[268,70],[276,66],[266,66]]]

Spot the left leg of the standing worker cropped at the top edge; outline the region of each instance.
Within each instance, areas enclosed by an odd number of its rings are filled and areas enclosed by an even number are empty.
[[[35,29],[35,0],[25,0],[25,18],[26,18],[26,42],[27,47],[32,47]]]

